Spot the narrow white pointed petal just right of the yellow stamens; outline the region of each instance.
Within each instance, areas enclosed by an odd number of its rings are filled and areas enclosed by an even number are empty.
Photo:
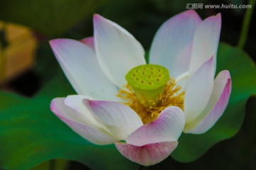
[[[213,60],[211,57],[188,80],[184,98],[186,123],[195,120],[210,99],[214,84]]]

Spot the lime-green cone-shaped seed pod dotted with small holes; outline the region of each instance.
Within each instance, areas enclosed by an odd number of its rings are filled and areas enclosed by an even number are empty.
[[[131,69],[125,76],[137,99],[146,108],[158,105],[169,79],[169,71],[156,64],[145,64]]]

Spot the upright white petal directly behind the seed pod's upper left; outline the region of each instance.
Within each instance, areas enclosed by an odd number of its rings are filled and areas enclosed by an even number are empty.
[[[126,84],[125,75],[130,69],[146,64],[142,45],[124,28],[95,14],[95,50],[100,67],[119,87]]]

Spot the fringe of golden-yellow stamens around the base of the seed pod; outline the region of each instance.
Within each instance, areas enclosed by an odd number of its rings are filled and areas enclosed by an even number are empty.
[[[124,87],[127,90],[120,89],[117,96],[127,101],[124,102],[124,104],[132,108],[139,115],[144,124],[156,120],[159,113],[166,107],[178,106],[183,110],[183,98],[185,92],[178,93],[178,91],[181,90],[181,86],[176,86],[175,79],[169,78],[163,95],[156,99],[158,101],[157,106],[151,106],[149,108],[146,108],[143,105],[143,101],[138,100],[129,84],[124,85]]]

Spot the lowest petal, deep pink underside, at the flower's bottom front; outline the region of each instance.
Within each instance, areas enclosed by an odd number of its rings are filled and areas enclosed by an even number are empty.
[[[178,142],[159,142],[137,147],[119,142],[115,143],[115,146],[124,157],[144,166],[163,161],[174,151],[177,145]]]

